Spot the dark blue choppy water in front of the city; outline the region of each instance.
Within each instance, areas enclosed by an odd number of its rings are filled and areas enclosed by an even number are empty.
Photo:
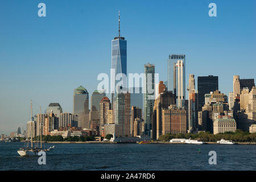
[[[44,145],[55,149],[47,154],[46,165],[39,165],[39,156],[18,155],[24,143],[0,142],[0,170],[256,170],[256,145]],[[217,152],[217,165],[209,165],[209,151]]]

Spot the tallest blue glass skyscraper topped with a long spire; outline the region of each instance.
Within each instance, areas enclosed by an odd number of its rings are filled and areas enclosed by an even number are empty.
[[[120,35],[120,12],[119,12],[119,30],[118,30],[118,36],[112,40],[112,69],[115,71],[114,77],[121,73],[127,75],[127,42],[124,37]],[[122,77],[123,82],[123,88],[127,88],[126,86],[126,79]],[[121,80],[121,79],[120,79]],[[115,80],[114,83],[112,83],[115,86],[119,80]],[[114,93],[116,93],[117,90],[115,90]],[[112,93],[112,104],[114,99],[114,93]]]

